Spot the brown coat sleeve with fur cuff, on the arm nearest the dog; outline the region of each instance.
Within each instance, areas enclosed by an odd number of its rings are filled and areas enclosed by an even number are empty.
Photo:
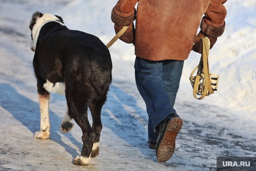
[[[135,20],[138,0],[119,0],[111,12],[111,20],[119,26],[127,26]]]

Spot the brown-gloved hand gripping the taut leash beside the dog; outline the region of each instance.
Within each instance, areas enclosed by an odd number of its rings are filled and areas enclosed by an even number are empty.
[[[123,28],[124,26],[118,26],[115,24],[114,28],[116,31],[116,34]],[[120,40],[122,40],[125,43],[134,43],[134,34],[135,34],[135,28],[134,24],[131,23],[128,25],[128,29],[124,32],[124,34],[119,37]]]

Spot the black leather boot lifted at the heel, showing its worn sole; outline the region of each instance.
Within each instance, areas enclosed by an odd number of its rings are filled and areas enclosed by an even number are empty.
[[[182,127],[182,119],[176,113],[169,114],[155,129],[158,133],[156,157],[159,162],[166,162],[175,150],[175,139]]]

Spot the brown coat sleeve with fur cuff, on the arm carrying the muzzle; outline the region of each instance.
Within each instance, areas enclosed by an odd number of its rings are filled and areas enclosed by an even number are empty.
[[[223,4],[226,1],[227,0],[211,0],[200,24],[200,29],[204,34],[215,38],[223,34],[225,29],[224,20],[227,14]]]

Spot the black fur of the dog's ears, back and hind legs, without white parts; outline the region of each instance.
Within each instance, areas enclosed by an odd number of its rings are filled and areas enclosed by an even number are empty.
[[[40,12],[33,14],[30,29],[40,16]],[[60,16],[57,17],[63,22]],[[33,66],[40,95],[50,93],[43,88],[46,79],[52,83],[65,83],[68,113],[83,132],[81,156],[88,158],[93,143],[99,142],[101,108],[112,80],[107,47],[94,35],[49,22],[40,30]],[[92,127],[88,121],[88,107],[92,113]]]

